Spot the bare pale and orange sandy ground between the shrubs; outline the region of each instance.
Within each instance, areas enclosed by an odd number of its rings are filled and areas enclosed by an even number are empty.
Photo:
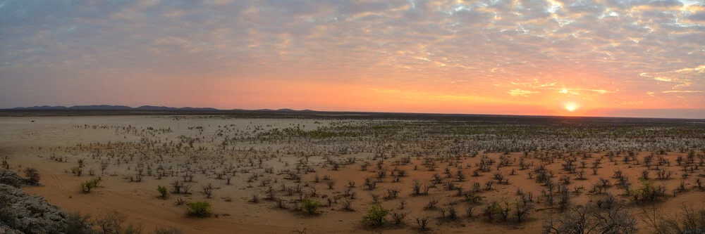
[[[32,122],[34,121],[34,122]],[[99,215],[109,210],[116,210],[129,216],[128,222],[141,223],[146,230],[152,230],[156,226],[176,226],[185,233],[297,233],[296,230],[306,230],[303,233],[410,233],[420,232],[415,221],[415,217],[431,216],[431,233],[540,233],[543,220],[551,215],[560,215],[556,205],[537,204],[537,209],[529,214],[529,219],[522,223],[515,221],[494,221],[487,222],[480,216],[482,205],[478,205],[474,210],[474,217],[468,219],[465,216],[465,207],[472,206],[467,202],[462,202],[462,197],[455,195],[455,191],[448,191],[439,185],[431,188],[429,195],[410,196],[412,183],[419,181],[422,184],[430,184],[433,174],[443,175],[447,164],[438,162],[435,171],[429,171],[422,167],[423,157],[412,156],[409,164],[398,164],[394,162],[410,155],[409,152],[401,150],[398,155],[389,155],[384,160],[383,168],[386,171],[405,170],[407,176],[399,182],[392,182],[392,177],[384,178],[376,189],[369,191],[364,188],[364,179],[375,177],[380,171],[376,167],[374,152],[356,152],[350,155],[326,154],[324,150],[319,150],[309,143],[302,143],[300,139],[291,140],[292,143],[282,145],[272,145],[266,142],[239,141],[223,146],[220,139],[223,136],[240,133],[240,136],[250,136],[246,133],[252,131],[266,131],[267,129],[284,128],[298,126],[303,130],[315,129],[318,126],[327,126],[331,121],[317,119],[219,119],[214,117],[151,117],[151,116],[119,116],[119,117],[3,117],[0,118],[0,157],[7,157],[11,164],[11,169],[22,171],[26,167],[34,167],[42,175],[42,186],[25,188],[27,193],[46,197],[49,202],[56,204],[68,211],[78,211],[84,214]],[[225,130],[222,126],[228,126]],[[198,128],[202,127],[202,129]],[[127,128],[127,129],[126,129]],[[148,129],[148,128],[151,128]],[[156,129],[156,130],[155,130]],[[161,129],[162,131],[159,131]],[[219,135],[221,134],[221,135]],[[199,138],[194,148],[187,146],[185,138]],[[142,144],[140,144],[142,142]],[[150,142],[150,143],[145,143]],[[178,142],[181,142],[183,150],[176,150]],[[151,148],[145,145],[152,145]],[[281,186],[295,186],[295,181],[287,179],[289,171],[295,171],[298,162],[305,157],[297,155],[293,149],[311,147],[308,158],[308,165],[315,172],[301,171],[302,191],[309,194],[313,190],[318,194],[314,200],[321,202],[322,207],[319,214],[309,216],[303,212],[295,212],[292,207],[298,195],[286,195],[281,191]],[[287,152],[289,151],[289,152]],[[299,151],[303,152],[303,151]],[[649,155],[650,152],[639,152],[639,158]],[[482,154],[487,159],[499,160],[502,154],[488,153]],[[588,165],[601,158],[605,152],[592,152],[592,157],[587,159]],[[685,153],[669,152],[664,156],[673,161],[678,155]],[[333,170],[330,164],[326,164],[328,157],[335,157],[341,160],[352,157],[354,164],[343,165],[338,170]],[[509,155],[512,160],[522,157],[521,152],[512,152]],[[57,162],[56,158],[61,158]],[[259,167],[258,160],[262,158],[262,167]],[[82,176],[71,174],[71,168],[78,166],[78,161],[84,160],[85,166]],[[123,161],[118,164],[117,161]],[[474,182],[484,184],[491,180],[493,174],[497,172],[492,167],[491,172],[482,173],[481,176],[471,176],[477,162],[481,157],[462,157],[457,165],[462,166],[467,178],[464,181],[456,181],[455,185],[468,190],[472,188]],[[535,160],[529,160],[533,162]],[[101,171],[101,162],[109,162],[109,167]],[[360,164],[369,162],[367,171],[361,171]],[[457,165],[451,167],[455,174]],[[414,169],[414,167],[417,169]],[[469,167],[467,167],[469,166]],[[138,174],[137,168],[141,168],[141,182],[130,182],[130,176]],[[154,170],[162,167],[166,171],[171,171],[162,178],[152,174],[148,176],[146,168]],[[231,185],[226,184],[226,180],[216,178],[216,174],[222,173],[231,167]],[[569,175],[561,170],[560,162],[549,164],[548,169],[556,171],[556,180],[563,175]],[[271,172],[266,171],[271,168]],[[663,181],[655,181],[664,184],[670,190],[677,188],[683,179],[680,171],[675,165],[666,167],[673,171],[672,178]],[[94,171],[94,176],[89,174],[89,170]],[[510,175],[512,169],[516,170],[515,175]],[[603,159],[603,164],[599,168],[599,173],[593,175],[591,169],[586,169],[586,180],[573,180],[570,187],[584,186],[579,195],[573,195],[572,204],[584,204],[590,200],[595,200],[602,195],[593,195],[587,190],[598,178],[611,178],[613,171],[621,169],[632,183],[637,184],[642,170],[642,166],[634,164],[614,165]],[[172,181],[182,180],[185,171],[193,171],[192,193],[189,195],[172,194],[167,200],[161,199],[157,193],[157,186],[169,185]],[[508,185],[495,184],[489,191],[479,193],[483,202],[517,199],[517,188],[534,195],[540,195],[541,186],[529,178],[531,169],[519,170],[517,167],[502,167],[498,169],[506,178],[510,179]],[[155,172],[156,173],[156,172]],[[171,174],[174,176],[171,176]],[[655,172],[651,172],[652,176]],[[20,173],[21,174],[21,173]],[[252,182],[248,179],[254,175]],[[319,183],[314,182],[314,177],[321,178]],[[92,193],[82,193],[79,183],[90,178],[100,176],[102,178],[101,187]],[[329,176],[336,181],[333,189],[329,189],[324,176]],[[572,176],[570,174],[569,176]],[[685,179],[688,188],[694,186],[697,175]],[[269,181],[268,186],[277,190],[278,197],[288,201],[289,209],[278,209],[274,202],[262,199],[258,203],[250,202],[253,195],[264,198],[267,186],[262,186],[262,181]],[[342,195],[348,181],[354,181],[356,186],[352,190],[357,193],[353,200],[355,212],[348,212],[341,209],[344,199],[338,204],[333,203],[328,207],[326,198]],[[201,193],[202,186],[211,183],[214,192],[211,198]],[[404,209],[398,209],[400,198],[383,200],[386,188],[400,189],[400,197],[406,202]],[[610,193],[618,196],[620,200],[629,200],[629,197],[620,196],[623,190],[612,186],[608,188]],[[368,207],[372,205],[372,196],[380,196],[381,205],[388,209],[396,209],[399,212],[409,212],[402,226],[388,225],[384,228],[368,228],[360,224],[360,219]],[[192,218],[186,215],[184,205],[176,205],[176,200],[182,197],[190,202],[209,201],[213,204],[213,213],[216,216],[209,218]],[[456,204],[460,218],[455,221],[444,221],[439,219],[438,210],[424,209],[424,206],[431,200],[438,199],[443,204]],[[229,200],[229,201],[228,201]],[[689,190],[679,193],[675,197],[668,197],[658,202],[656,207],[664,213],[675,213],[682,206],[702,207],[705,204],[705,193]],[[635,214],[639,213],[639,206],[632,205]],[[642,230],[639,233],[648,233],[642,223]]]

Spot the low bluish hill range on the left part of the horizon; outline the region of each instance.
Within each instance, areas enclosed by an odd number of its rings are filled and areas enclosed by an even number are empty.
[[[74,105],[72,107],[65,107],[61,105],[49,106],[32,106],[32,107],[20,107],[11,108],[9,110],[153,110],[153,111],[170,111],[170,110],[190,110],[190,111],[218,111],[216,108],[172,108],[166,106],[155,106],[155,105],[142,105],[138,108],[131,108],[125,105]],[[243,109],[233,109],[229,111],[253,111],[253,110],[243,110]],[[291,109],[261,109],[254,111],[264,111],[264,112],[314,112],[313,110],[291,110]]]

